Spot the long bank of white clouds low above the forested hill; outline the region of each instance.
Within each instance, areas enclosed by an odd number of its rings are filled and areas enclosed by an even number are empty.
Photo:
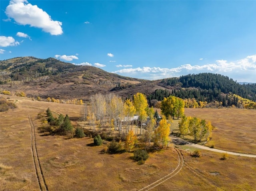
[[[117,67],[124,67],[117,65]],[[256,74],[256,55],[247,56],[244,59],[229,62],[226,60],[216,60],[215,63],[208,63],[205,65],[180,65],[175,68],[160,68],[160,67],[137,67],[129,69],[120,69],[112,73],[127,75],[141,79],[163,79],[169,77],[179,77],[191,73],[218,73],[226,75],[238,81],[254,82]]]

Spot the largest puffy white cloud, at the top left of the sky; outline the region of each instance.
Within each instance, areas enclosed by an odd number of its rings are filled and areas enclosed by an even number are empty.
[[[20,25],[41,28],[51,35],[61,35],[63,33],[62,22],[52,20],[44,10],[37,5],[28,3],[27,0],[10,0],[5,13],[8,18],[13,18]]]

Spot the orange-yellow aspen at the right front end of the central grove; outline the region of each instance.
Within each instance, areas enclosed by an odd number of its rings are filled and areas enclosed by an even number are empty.
[[[167,123],[166,117],[163,116],[162,120],[159,122],[158,128],[154,131],[154,144],[157,146],[167,146],[170,135],[170,124]]]

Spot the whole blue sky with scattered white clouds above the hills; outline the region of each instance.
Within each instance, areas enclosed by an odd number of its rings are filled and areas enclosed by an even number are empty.
[[[141,79],[256,83],[256,1],[0,1],[0,59],[55,57]]]

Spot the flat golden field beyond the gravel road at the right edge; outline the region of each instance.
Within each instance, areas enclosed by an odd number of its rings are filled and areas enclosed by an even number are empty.
[[[232,152],[256,154],[256,110],[238,108],[186,108],[186,116],[210,120],[216,127],[206,146]]]

